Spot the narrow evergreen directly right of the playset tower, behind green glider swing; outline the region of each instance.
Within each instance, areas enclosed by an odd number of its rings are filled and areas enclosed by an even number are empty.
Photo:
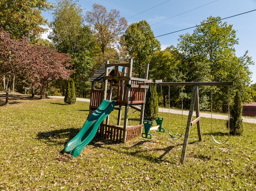
[[[144,120],[153,121],[158,114],[158,95],[155,86],[149,86],[146,94]]]

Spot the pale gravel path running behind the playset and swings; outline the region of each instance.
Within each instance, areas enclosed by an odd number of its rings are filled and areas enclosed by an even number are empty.
[[[64,96],[48,96],[48,97],[64,99]],[[90,102],[90,99],[88,99],[88,98],[76,98],[76,100],[77,101]],[[159,108],[159,112],[168,113],[169,109],[168,108]],[[182,110],[170,109],[170,113],[182,114]],[[183,114],[188,116],[188,110],[183,111]],[[193,115],[196,116],[196,112],[194,112]],[[200,112],[200,116],[201,117],[205,117],[205,118],[211,118],[211,114],[210,113]],[[227,120],[228,116],[227,115],[222,115],[222,114],[212,114],[212,118]],[[247,117],[242,117],[242,118],[243,118],[243,121],[246,122],[246,123],[254,123],[254,124],[256,124],[256,118],[247,118]]]

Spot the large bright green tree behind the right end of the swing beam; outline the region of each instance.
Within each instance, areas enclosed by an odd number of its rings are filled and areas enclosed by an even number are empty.
[[[209,63],[209,81],[234,81],[234,88],[230,95],[234,96],[235,90],[243,91],[242,101],[250,101],[248,98],[248,86],[252,74],[248,65],[254,64],[247,55],[236,57],[234,45],[238,44],[236,31],[232,25],[222,23],[220,17],[209,17],[197,26],[192,35],[186,33],[180,35],[178,48],[186,60],[191,57],[201,63]],[[215,87],[213,99],[218,102],[216,108],[228,103],[228,89],[226,87]],[[224,98],[224,99],[223,99]]]

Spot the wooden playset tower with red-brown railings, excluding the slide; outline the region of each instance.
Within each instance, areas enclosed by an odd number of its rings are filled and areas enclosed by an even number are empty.
[[[108,116],[98,129],[98,135],[108,140],[126,142],[142,134],[143,116],[145,108],[147,85],[138,83],[151,82],[148,80],[148,68],[146,65],[144,79],[132,77],[132,59],[129,63],[109,63],[102,65],[92,76],[92,89],[90,95],[90,114],[98,108],[103,99],[116,100],[114,109],[118,110],[116,125],[110,125],[109,121],[115,119]],[[96,89],[96,82],[101,82],[103,89]],[[122,109],[124,108],[124,122],[121,124]],[[140,121],[136,126],[128,126],[129,108],[140,112]]]

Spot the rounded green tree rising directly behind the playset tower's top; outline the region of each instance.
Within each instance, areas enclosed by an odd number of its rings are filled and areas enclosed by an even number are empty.
[[[144,76],[144,68],[154,52],[160,50],[160,42],[155,39],[150,25],[145,20],[132,23],[124,34],[122,44],[134,59],[134,72],[138,77]]]

